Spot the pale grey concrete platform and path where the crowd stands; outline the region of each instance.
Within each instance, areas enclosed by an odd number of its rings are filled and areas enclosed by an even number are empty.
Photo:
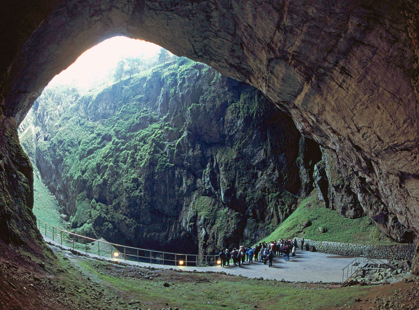
[[[44,240],[57,247],[70,250],[71,247],[61,245],[57,241],[53,241],[51,238],[44,237]],[[83,253],[83,252],[82,252]],[[83,253],[91,258],[99,258],[106,261],[118,261],[124,264],[139,267],[154,267],[160,269],[180,269],[182,271],[213,271],[213,272],[226,272],[232,275],[242,275],[248,278],[260,278],[264,279],[276,279],[285,281],[307,281],[307,282],[341,282],[342,281],[342,269],[350,264],[354,258],[347,256],[336,256],[325,253],[309,252],[309,251],[296,251],[295,258],[290,257],[290,261],[285,261],[283,258],[274,258],[273,266],[268,267],[268,263],[254,262],[250,264],[246,262],[241,267],[231,266],[221,267],[185,267],[185,266],[170,266],[160,264],[149,264],[149,263],[137,263],[136,261],[128,261],[120,258],[109,258],[105,256],[99,256],[92,253]]]

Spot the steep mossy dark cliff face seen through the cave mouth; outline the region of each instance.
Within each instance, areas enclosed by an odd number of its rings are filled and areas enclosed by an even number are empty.
[[[79,233],[207,253],[260,240],[312,190],[319,146],[204,64],[181,58],[83,97],[55,91],[22,123],[22,144]]]

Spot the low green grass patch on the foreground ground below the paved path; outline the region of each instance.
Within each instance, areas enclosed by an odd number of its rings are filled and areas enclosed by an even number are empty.
[[[166,302],[172,308],[181,309],[235,310],[253,308],[254,305],[266,310],[324,309],[336,305],[354,305],[355,297],[362,298],[367,295],[364,287],[310,289],[304,288],[304,285],[257,281],[237,276],[155,271],[159,275],[163,274],[165,278],[170,276],[170,287],[163,287],[167,280],[110,276],[93,268],[89,262],[78,261],[78,265],[91,278],[105,286],[106,290],[117,289],[120,294],[127,296],[123,301],[140,300],[141,307],[150,305],[153,309],[165,307]],[[103,268],[106,269],[105,264]],[[138,269],[136,272],[139,271],[146,272],[147,269]]]

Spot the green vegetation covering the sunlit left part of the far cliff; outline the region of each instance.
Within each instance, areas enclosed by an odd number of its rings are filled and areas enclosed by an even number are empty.
[[[197,66],[199,69],[195,68]],[[176,64],[162,64],[84,96],[72,87],[51,86],[44,90],[34,106],[39,107],[37,115],[32,117],[44,119],[44,128],[31,128],[22,134],[22,145],[33,162],[36,156],[39,157],[39,165],[44,171],[55,171],[56,165],[60,165],[67,190],[75,193],[67,206],[76,210],[70,217],[75,233],[96,237],[95,226],[111,231],[115,230],[115,223],[128,224],[132,220],[127,216],[131,210],[124,209],[127,200],[130,206],[141,203],[144,184],[150,186],[147,191],[159,188],[163,178],[166,178],[165,183],[173,184],[173,156],[178,138],[185,129],[176,127],[176,121],[171,120],[188,114],[189,103],[171,115],[158,115],[155,94],[150,92],[158,88],[168,90],[166,100],[172,100],[176,88],[182,87],[178,81],[184,83],[184,77],[188,76],[196,78],[207,68],[180,58]],[[216,76],[220,77],[212,74],[207,78]],[[106,96],[112,97],[111,103]],[[200,95],[194,93],[193,97],[190,104],[198,107],[199,114],[202,108]],[[98,109],[103,102],[109,106]],[[35,132],[47,135],[44,139],[33,138]],[[36,189],[39,187],[39,191],[43,191],[44,186],[38,183]],[[41,196],[36,195],[39,204],[35,214],[41,220],[59,225],[59,218],[54,218],[57,207],[42,209],[46,203]],[[107,205],[107,199],[111,201],[109,208],[93,208],[92,213],[91,204],[95,207],[101,202]],[[158,203],[164,207],[164,201]],[[129,229],[135,230],[135,223],[131,224]]]

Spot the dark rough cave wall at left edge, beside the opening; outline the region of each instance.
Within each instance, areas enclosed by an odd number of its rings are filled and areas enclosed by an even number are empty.
[[[34,179],[32,165],[19,144],[13,118],[0,111],[0,238],[1,242],[23,246],[38,257],[46,249],[36,230],[32,207]],[[21,227],[26,227],[23,230]]]

